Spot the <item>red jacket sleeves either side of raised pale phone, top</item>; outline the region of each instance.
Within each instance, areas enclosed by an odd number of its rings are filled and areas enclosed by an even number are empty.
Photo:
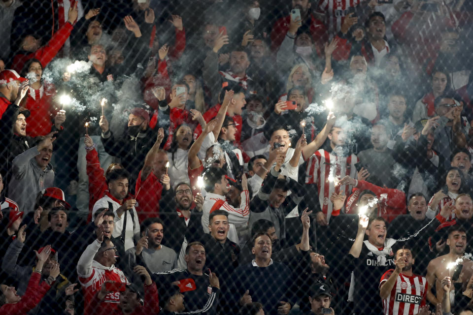
[[[291,17],[286,16],[280,18],[279,20],[274,23],[271,31],[271,51],[277,52],[279,46],[281,46],[284,37],[289,30],[289,23],[291,22]],[[327,32],[327,28],[325,24],[317,20],[312,14],[310,14],[310,34],[312,35],[312,40],[315,43],[315,47],[317,49],[317,53],[321,55],[324,51],[325,42],[328,41],[329,36]]]

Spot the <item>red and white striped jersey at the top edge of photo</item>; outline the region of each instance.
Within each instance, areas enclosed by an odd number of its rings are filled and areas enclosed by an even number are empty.
[[[325,13],[325,25],[330,35],[340,31],[348,15],[348,8],[360,4],[361,0],[320,0],[317,10]]]

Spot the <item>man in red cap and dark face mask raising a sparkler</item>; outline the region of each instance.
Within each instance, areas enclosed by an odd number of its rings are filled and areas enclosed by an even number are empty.
[[[121,139],[115,140],[105,116],[101,116],[99,125],[102,130],[101,141],[106,153],[121,158],[123,167],[131,173],[133,182],[130,184],[133,192],[135,179],[143,167],[145,157],[157,141],[158,133],[161,131],[158,131],[158,127],[154,129],[149,127],[149,113],[139,107],[132,109],[128,115],[127,134]],[[163,144],[164,134],[160,134],[159,138],[161,140],[158,147]]]

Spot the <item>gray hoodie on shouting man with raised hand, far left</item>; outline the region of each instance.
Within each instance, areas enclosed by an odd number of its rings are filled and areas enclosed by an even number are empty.
[[[25,214],[34,211],[36,195],[40,190],[53,187],[53,165],[48,163],[42,170],[34,159],[38,154],[38,148],[33,147],[14,158],[12,163],[8,197],[15,200]]]

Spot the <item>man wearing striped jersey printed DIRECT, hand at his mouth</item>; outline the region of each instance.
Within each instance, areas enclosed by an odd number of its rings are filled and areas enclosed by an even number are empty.
[[[407,309],[411,314],[418,314],[426,305],[427,280],[412,273],[414,263],[411,248],[398,249],[396,268],[389,269],[381,277],[379,296],[383,299],[384,315],[397,315]]]

